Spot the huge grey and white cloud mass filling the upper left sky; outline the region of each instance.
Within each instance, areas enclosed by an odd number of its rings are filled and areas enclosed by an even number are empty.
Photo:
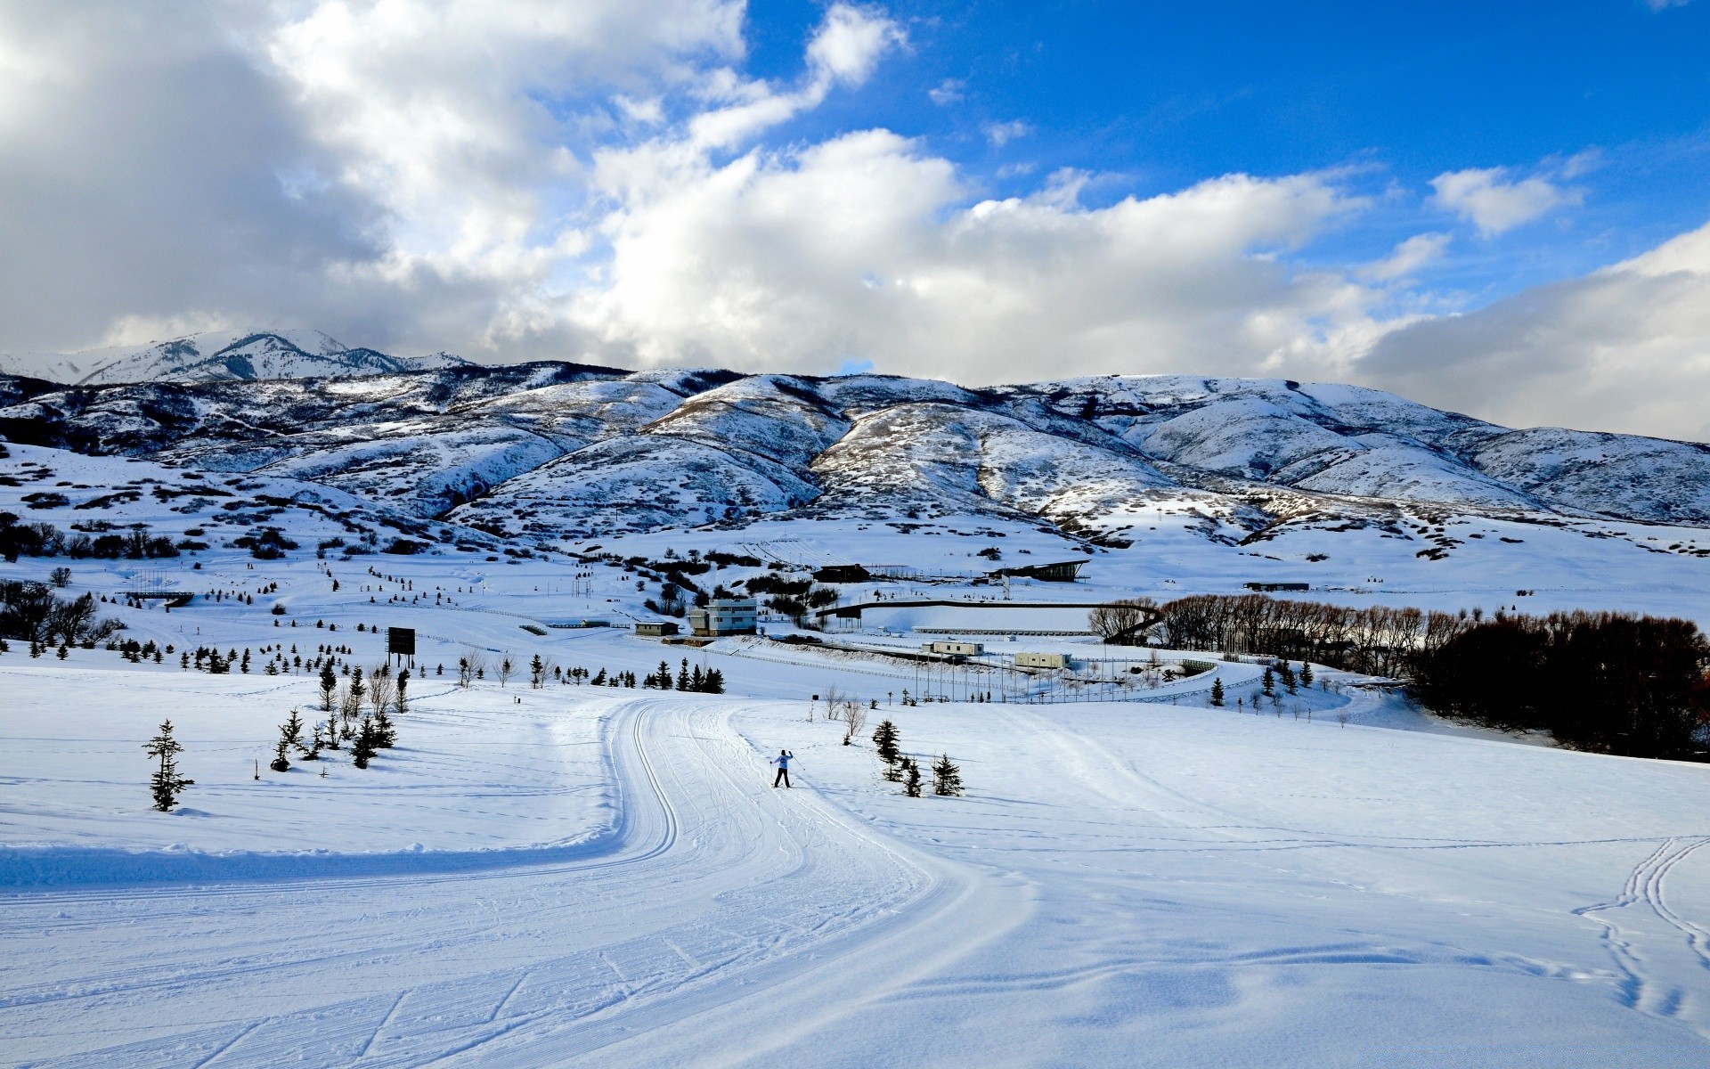
[[[284,12],[280,15],[280,12]],[[0,346],[147,323],[475,347],[575,255],[604,92],[742,53],[735,0],[0,5]],[[556,106],[576,87],[585,99]]]

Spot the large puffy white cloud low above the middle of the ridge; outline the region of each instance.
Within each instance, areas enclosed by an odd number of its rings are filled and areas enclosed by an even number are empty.
[[[605,221],[607,281],[573,316],[650,364],[1255,373],[1327,359],[1368,325],[1363,289],[1265,255],[1359,207],[1317,176],[1105,209],[1053,181],[970,205],[954,166],[886,130],[723,166],[655,147],[641,183],[636,156],[609,161],[629,193]]]

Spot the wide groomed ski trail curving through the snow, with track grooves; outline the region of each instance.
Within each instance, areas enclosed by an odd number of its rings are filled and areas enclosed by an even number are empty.
[[[994,936],[985,918],[1024,912],[992,901],[1011,884],[812,792],[770,790],[734,708],[619,705],[621,818],[569,857],[15,895],[21,960],[53,965],[5,975],[0,1059],[728,1064],[858,1013]]]

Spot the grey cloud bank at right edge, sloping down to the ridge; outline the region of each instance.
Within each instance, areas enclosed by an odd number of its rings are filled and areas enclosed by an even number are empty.
[[[1583,279],[1407,325],[1358,373],[1517,426],[1710,440],[1710,226]]]

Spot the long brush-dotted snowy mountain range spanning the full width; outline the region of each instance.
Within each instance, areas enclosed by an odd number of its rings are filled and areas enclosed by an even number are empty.
[[[1515,431],[1358,387],[412,368],[316,339],[185,339],[75,387],[0,376],[0,436],[320,482],[532,540],[971,515],[1120,546],[1166,505],[1229,544],[1402,510],[1710,525],[1703,445]],[[99,381],[144,368],[173,375]]]

